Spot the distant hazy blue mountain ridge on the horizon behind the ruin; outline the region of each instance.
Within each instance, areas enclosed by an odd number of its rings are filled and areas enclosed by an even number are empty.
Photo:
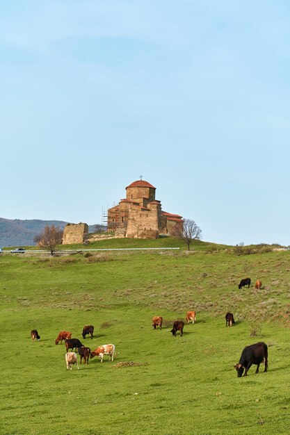
[[[41,233],[47,225],[54,225],[63,229],[69,222],[63,220],[21,220],[4,219],[0,217],[0,247],[33,246],[33,238]],[[95,225],[89,225],[89,233],[95,232]]]

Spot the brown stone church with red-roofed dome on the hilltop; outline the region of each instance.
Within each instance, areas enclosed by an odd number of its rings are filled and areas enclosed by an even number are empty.
[[[128,238],[158,238],[182,227],[182,216],[166,213],[155,199],[152,184],[137,180],[126,188],[126,198],[108,209],[108,231]]]

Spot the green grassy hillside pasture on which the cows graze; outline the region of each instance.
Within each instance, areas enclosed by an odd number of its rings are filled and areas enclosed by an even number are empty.
[[[0,433],[289,434],[290,253],[213,248],[1,256]],[[254,286],[238,290],[248,276]],[[173,337],[170,322],[188,309],[198,321]],[[165,318],[161,331],[153,315]],[[83,340],[88,324],[95,338]],[[41,340],[31,343],[34,328]],[[54,343],[62,329],[92,350],[115,344],[117,359],[67,372],[65,346]],[[259,340],[268,372],[239,379],[234,363]]]

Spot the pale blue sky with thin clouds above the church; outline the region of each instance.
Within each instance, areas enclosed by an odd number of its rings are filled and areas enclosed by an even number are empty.
[[[1,0],[0,217],[102,223],[143,176],[202,240],[290,245],[290,2]]]

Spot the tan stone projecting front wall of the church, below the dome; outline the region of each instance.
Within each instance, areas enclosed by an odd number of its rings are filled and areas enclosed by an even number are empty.
[[[148,210],[138,206],[129,206],[129,220],[126,237],[128,238],[158,238],[158,211]]]

